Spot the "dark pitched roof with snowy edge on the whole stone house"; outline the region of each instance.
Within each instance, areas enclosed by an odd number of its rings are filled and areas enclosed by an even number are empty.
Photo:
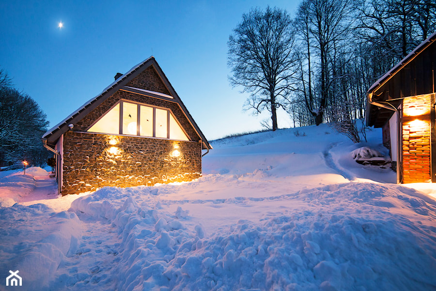
[[[147,94],[147,96],[150,97],[157,97],[162,99],[172,99],[171,101],[176,102],[183,113],[185,113],[188,121],[191,123],[192,127],[197,132],[199,138],[202,140],[202,149],[211,149],[212,146],[207,141],[206,137],[198,127],[198,125],[195,123],[194,119],[192,118],[191,114],[188,112],[185,104],[183,104],[180,97],[175,92],[174,88],[172,87],[170,81],[168,81],[168,78],[165,76],[164,72],[160,68],[160,66],[157,64],[155,58],[151,56],[150,58],[144,60],[138,65],[135,65],[133,68],[131,68],[127,73],[120,76],[118,79],[116,79],[114,82],[112,82],[108,87],[103,89],[102,93],[97,95],[96,97],[93,97],[89,101],[87,101],[85,104],[80,106],[78,110],[71,113],[66,117],[64,120],[62,120],[59,124],[55,125],[53,128],[49,129],[44,135],[43,140],[47,140],[47,144],[51,145],[52,147],[56,144],[57,140],[62,136],[63,133],[69,130],[68,125],[69,124],[75,124],[78,121],[80,121],[82,118],[84,118],[88,113],[90,113],[93,109],[95,109],[98,105],[103,103],[107,98],[115,94],[120,89],[123,89],[123,87],[129,88],[125,85],[129,83],[131,80],[133,80],[135,77],[137,77],[141,72],[143,72],[148,67],[153,66],[156,70],[156,73],[159,75],[160,79],[168,89],[171,95],[154,92],[150,90],[144,90],[144,89],[138,89],[135,88],[136,91],[139,91],[138,93],[141,94]],[[132,88],[133,89],[133,88]]]

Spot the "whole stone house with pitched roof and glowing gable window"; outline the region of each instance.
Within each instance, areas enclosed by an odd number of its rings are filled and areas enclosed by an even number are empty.
[[[212,148],[154,57],[118,73],[42,139],[62,195],[199,178],[202,150]]]

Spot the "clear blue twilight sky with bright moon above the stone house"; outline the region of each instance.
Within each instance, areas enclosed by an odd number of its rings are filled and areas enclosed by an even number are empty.
[[[227,40],[251,7],[299,1],[0,1],[0,68],[50,127],[152,54],[209,139],[260,129],[227,76]],[[63,28],[58,28],[62,21]],[[281,114],[279,127],[290,119]]]

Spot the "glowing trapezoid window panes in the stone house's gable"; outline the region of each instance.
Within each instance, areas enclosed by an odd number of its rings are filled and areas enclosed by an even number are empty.
[[[88,131],[189,140],[170,110],[125,101],[105,113]]]

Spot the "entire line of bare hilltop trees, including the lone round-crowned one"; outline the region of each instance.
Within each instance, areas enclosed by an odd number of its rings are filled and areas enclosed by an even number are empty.
[[[363,118],[369,87],[435,31],[436,1],[303,0],[294,18],[270,7],[242,18],[231,83],[275,130],[279,107],[295,127]]]

